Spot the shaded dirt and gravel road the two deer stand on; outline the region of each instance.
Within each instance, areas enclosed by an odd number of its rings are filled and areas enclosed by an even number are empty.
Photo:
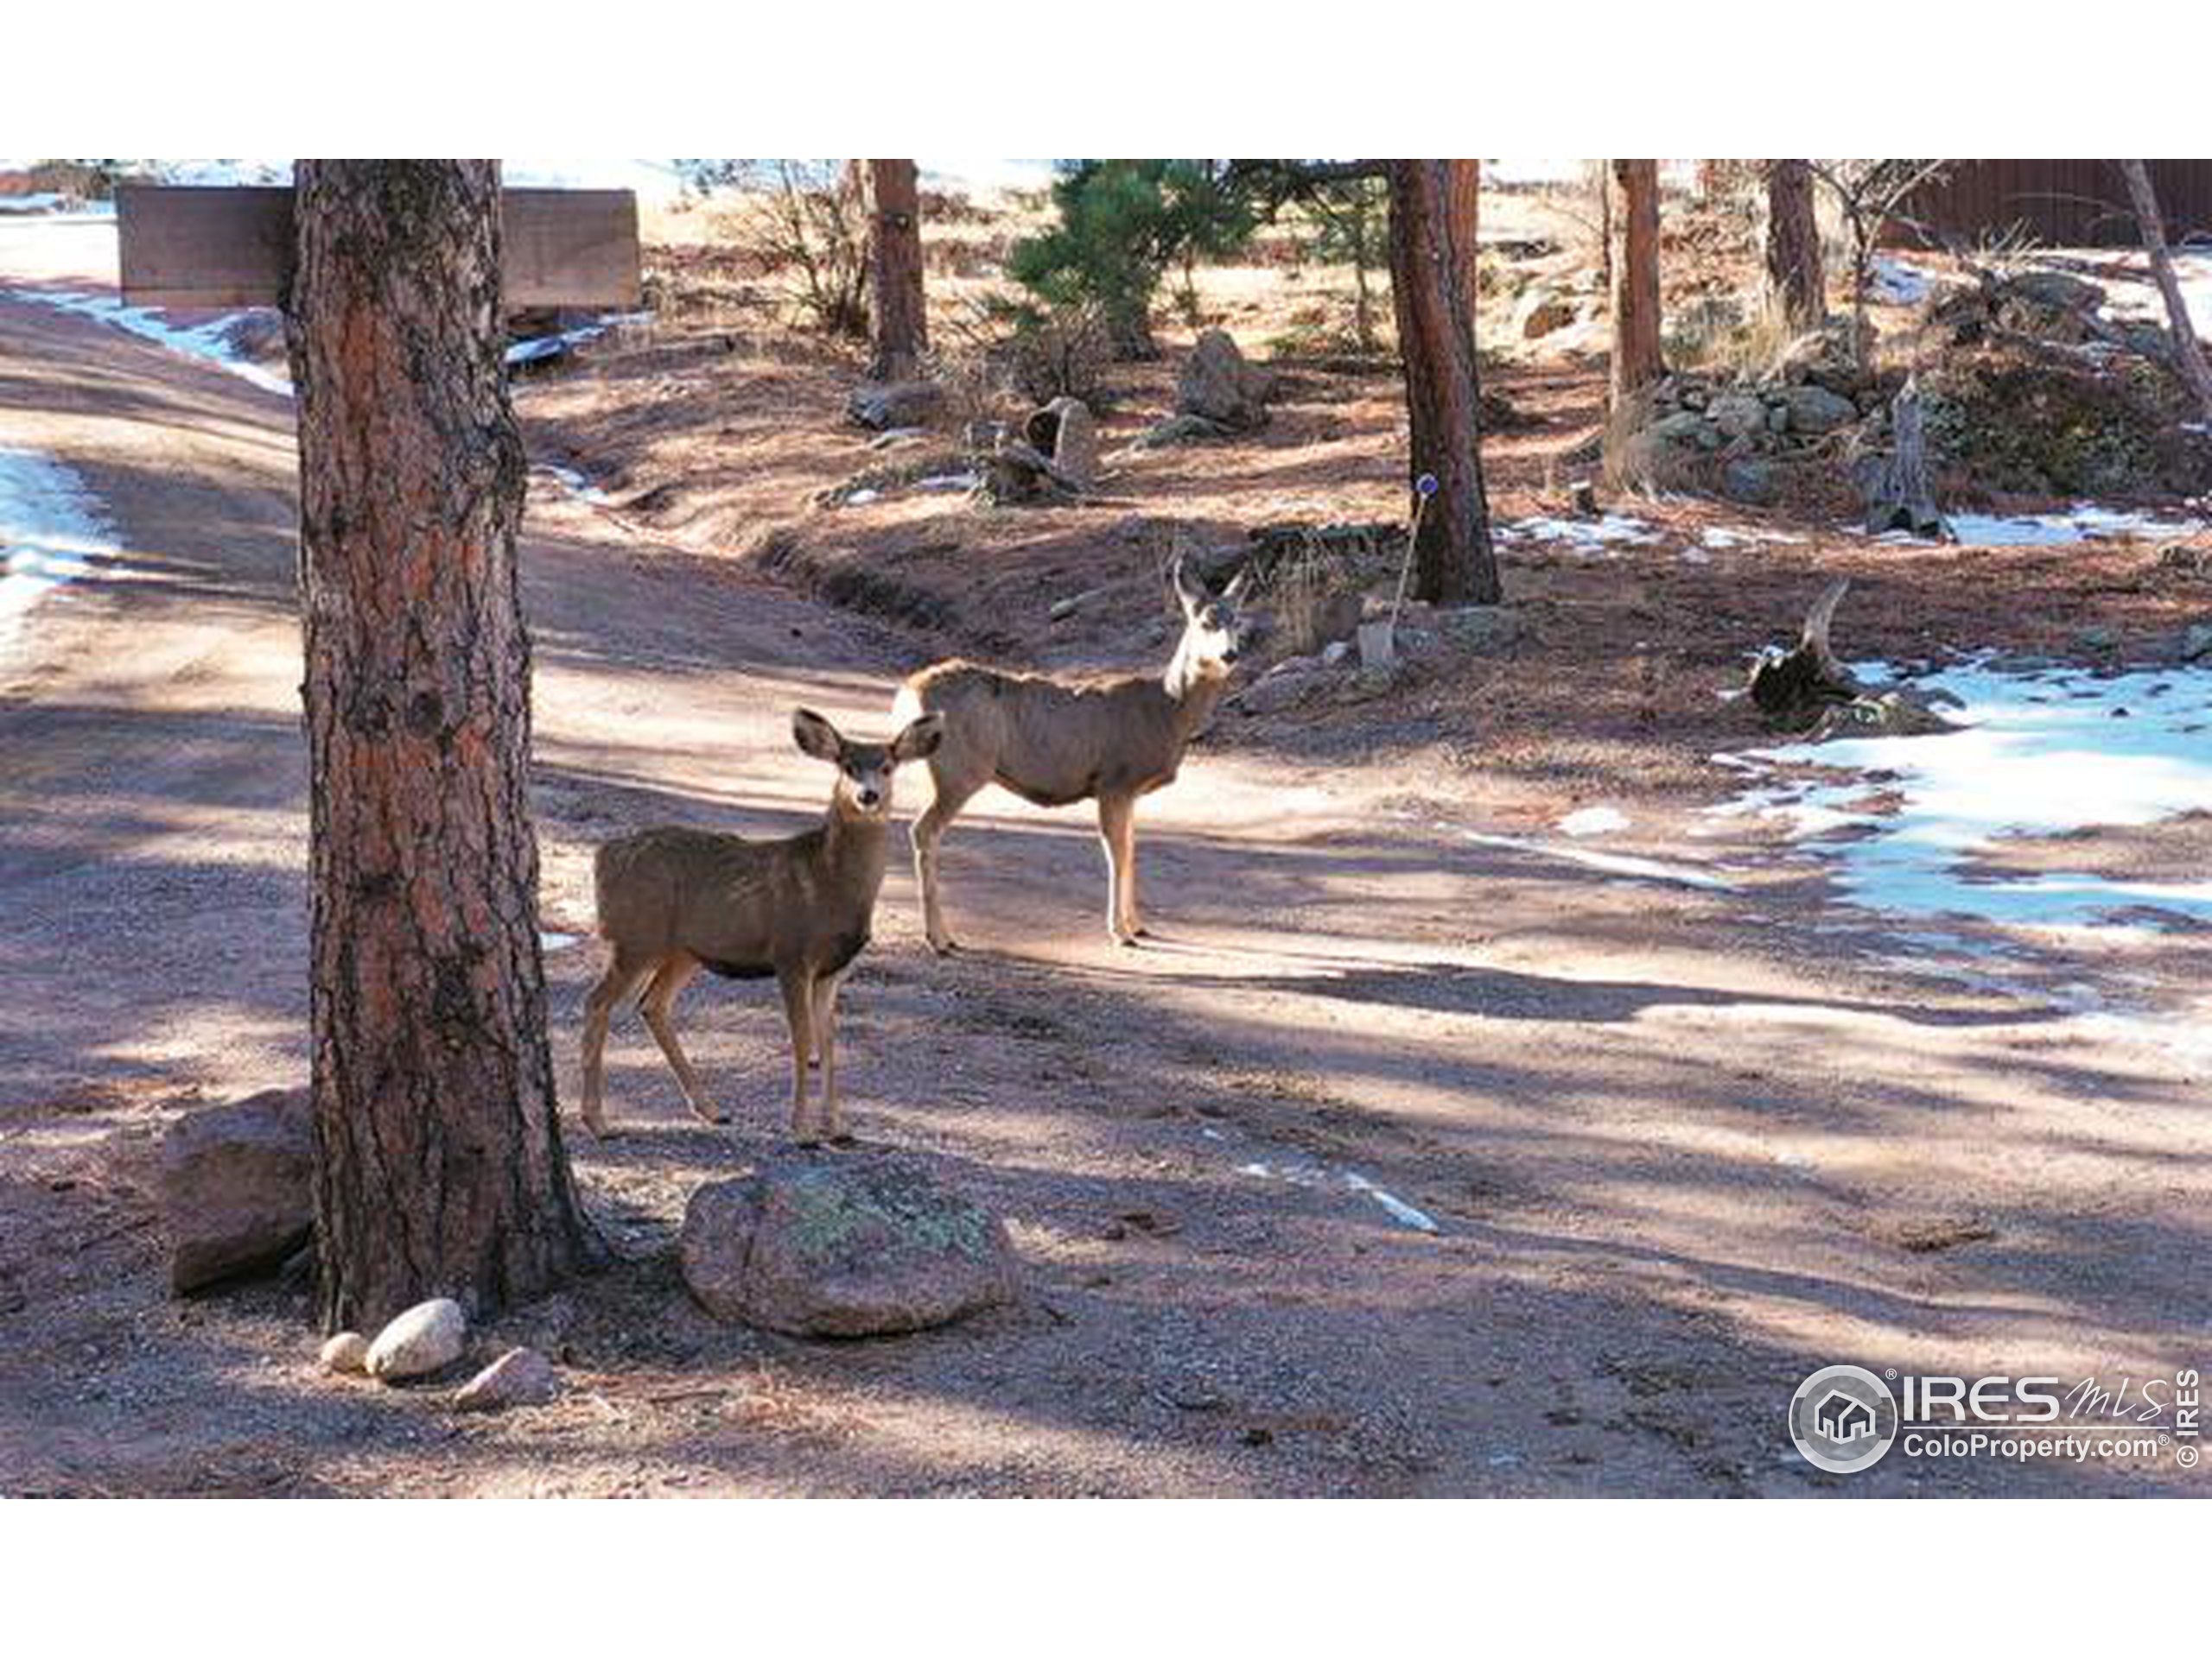
[[[1900,975],[1750,842],[1683,842],[1725,889],[1478,844],[1438,822],[1484,827],[1480,794],[1234,723],[1141,816],[1157,946],[1106,942],[1086,818],[991,796],[947,840],[973,955],[920,948],[894,869],[847,995],[863,1136],[1006,1214],[1020,1309],[818,1346],[686,1302],[688,1192],[781,1127],[781,1017],[712,986],[686,1039],[734,1130],[617,1026],[635,1132],[575,1156],[626,1262],[504,1329],[566,1366],[560,1406],[473,1421],[319,1377],[296,1284],[170,1302],[150,1211],[175,1112],[303,1072],[290,407],[0,298],[4,447],[75,469],[122,548],[0,661],[13,1492],[2201,1488],[2172,1455],[1838,1479],[1781,1426],[1832,1362],[2201,1364],[2183,1063]],[[526,581],[557,931],[615,829],[799,825],[827,774],[790,707],[880,725],[922,659],[546,478]],[[573,1090],[595,946],[549,968]]]

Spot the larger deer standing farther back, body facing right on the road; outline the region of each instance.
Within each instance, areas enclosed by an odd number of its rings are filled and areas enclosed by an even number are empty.
[[[936,800],[914,825],[914,875],[922,886],[929,948],[949,955],[938,898],[938,842],[960,807],[984,787],[1040,807],[1099,802],[1106,847],[1106,933],[1144,937],[1137,917],[1137,796],[1175,783],[1190,738],[1212,718],[1243,643],[1241,573],[1217,599],[1175,562],[1183,639],[1166,674],[1053,679],[971,661],[940,661],[898,688],[896,718],[945,716],[945,743],[929,758]]]

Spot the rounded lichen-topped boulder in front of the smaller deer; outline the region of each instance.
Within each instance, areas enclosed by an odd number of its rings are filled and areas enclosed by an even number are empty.
[[[684,1282],[714,1318],[891,1335],[1011,1302],[1006,1227],[896,1152],[790,1156],[692,1192]]]

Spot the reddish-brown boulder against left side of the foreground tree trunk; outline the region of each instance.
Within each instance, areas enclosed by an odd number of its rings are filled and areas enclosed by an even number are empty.
[[[314,1114],[305,1088],[215,1105],[161,1141],[168,1282],[179,1293],[279,1267],[314,1231]]]

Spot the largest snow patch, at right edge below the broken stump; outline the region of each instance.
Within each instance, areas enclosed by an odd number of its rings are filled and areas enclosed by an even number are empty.
[[[1958,696],[1947,712],[1964,730],[1728,756],[1756,767],[1747,772],[1756,783],[1712,816],[1787,820],[1836,864],[1847,902],[1889,915],[1964,915],[2024,928],[2106,926],[2124,911],[2212,922],[2212,882],[1973,864],[1978,851],[2004,838],[2212,811],[2212,672],[2097,676],[1975,659],[1920,685]],[[1774,776],[1803,765],[1858,776]]]

